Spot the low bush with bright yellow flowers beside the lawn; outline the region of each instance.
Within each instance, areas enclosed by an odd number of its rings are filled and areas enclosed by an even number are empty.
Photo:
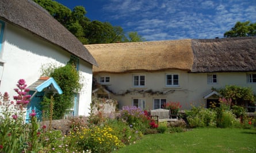
[[[82,150],[91,152],[112,152],[118,148],[124,147],[119,138],[114,135],[110,127],[90,127],[83,128],[82,131],[72,133],[71,138],[77,139],[77,146]]]

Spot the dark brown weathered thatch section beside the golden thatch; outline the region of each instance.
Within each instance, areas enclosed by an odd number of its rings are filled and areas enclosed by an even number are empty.
[[[256,37],[192,40],[191,72],[256,71]]]

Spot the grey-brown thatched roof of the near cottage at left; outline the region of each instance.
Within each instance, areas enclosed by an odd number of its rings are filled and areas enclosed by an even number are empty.
[[[72,33],[31,0],[1,0],[0,19],[24,28],[82,60],[97,65],[93,56]]]

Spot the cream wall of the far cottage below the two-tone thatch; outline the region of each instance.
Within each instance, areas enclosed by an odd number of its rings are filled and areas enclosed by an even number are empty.
[[[178,73],[179,74],[179,87],[166,87],[165,76],[167,73]],[[146,87],[137,88],[138,90],[148,90],[159,92],[167,92],[166,94],[155,94],[150,93],[125,93],[127,90],[131,91],[136,88],[132,87],[133,74],[145,74],[146,75]],[[142,73],[101,73],[96,74],[94,77],[99,79],[100,76],[110,76],[110,84],[106,84],[108,88],[117,93],[117,95],[111,95],[113,99],[119,102],[119,108],[124,105],[132,105],[133,98],[142,98],[146,100],[146,109],[153,108],[154,98],[166,98],[167,101],[179,101],[182,105],[182,109],[190,109],[192,105],[205,104],[204,96],[211,92],[212,87],[224,88],[225,85],[240,85],[242,87],[253,88],[256,93],[256,84],[249,84],[246,81],[245,72],[233,72],[233,73],[214,73],[217,74],[217,84],[207,83],[207,73],[188,73],[182,70],[170,70],[166,72],[142,72]],[[100,81],[98,80],[98,83]]]

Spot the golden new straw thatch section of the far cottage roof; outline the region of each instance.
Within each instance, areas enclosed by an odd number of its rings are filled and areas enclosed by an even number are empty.
[[[191,40],[96,44],[85,47],[98,62],[98,66],[93,66],[93,73],[190,70],[193,64]]]

